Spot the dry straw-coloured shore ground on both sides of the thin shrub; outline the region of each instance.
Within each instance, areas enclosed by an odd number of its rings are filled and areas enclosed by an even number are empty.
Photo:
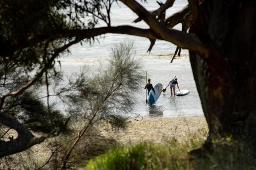
[[[120,144],[137,144],[141,141],[152,141],[155,143],[165,143],[170,139],[178,141],[188,140],[189,134],[201,132],[201,139],[207,134],[207,123],[204,117],[130,117],[127,128],[122,131],[112,129],[110,125],[101,124],[99,127],[99,135],[106,139],[115,139]],[[14,131],[10,131],[8,136],[15,135]],[[36,134],[35,134],[36,135]],[[15,137],[15,136],[14,136]],[[7,160],[2,159],[1,168],[8,167],[7,163],[11,162],[10,167],[17,169],[36,169],[44,164],[51,156],[51,151],[48,148],[50,139],[41,144],[37,144],[30,148],[27,152],[12,155]],[[204,139],[203,139],[204,140]],[[93,143],[97,143],[94,141]],[[0,164],[1,164],[0,163]]]

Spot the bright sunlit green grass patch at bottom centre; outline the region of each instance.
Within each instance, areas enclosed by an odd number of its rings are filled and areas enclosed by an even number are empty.
[[[88,162],[86,169],[190,169],[188,152],[200,147],[196,143],[180,143],[175,138],[165,144],[141,142],[111,149]]]

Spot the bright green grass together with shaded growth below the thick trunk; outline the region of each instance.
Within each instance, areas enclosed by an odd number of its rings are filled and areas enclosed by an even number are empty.
[[[231,137],[212,140],[210,149],[202,147],[204,140],[190,136],[186,142],[175,138],[164,144],[140,142],[109,150],[91,159],[88,170],[108,169],[256,169],[253,145]],[[200,152],[191,152],[200,149]]]

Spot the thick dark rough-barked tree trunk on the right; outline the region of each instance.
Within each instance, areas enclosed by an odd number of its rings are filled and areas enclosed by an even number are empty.
[[[190,28],[209,42],[205,56],[189,52],[209,136],[256,139],[255,9],[254,0],[205,0]]]

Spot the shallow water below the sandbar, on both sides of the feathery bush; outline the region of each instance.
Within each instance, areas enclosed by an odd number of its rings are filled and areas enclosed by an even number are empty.
[[[140,56],[138,56],[140,58]],[[91,72],[99,69],[100,65],[105,66],[106,59],[83,59],[80,62],[76,60],[62,61],[62,70],[66,73],[71,73],[73,70],[87,65]],[[203,115],[199,95],[196,89],[196,84],[192,74],[188,57],[180,57],[170,64],[170,59],[166,57],[158,58],[153,55],[143,56],[140,58],[142,64],[142,74],[147,78],[151,78],[151,83],[162,83],[165,88],[169,81],[175,76],[178,78],[180,89],[188,89],[190,93],[185,96],[170,96],[169,87],[165,93],[161,93],[156,106],[150,107],[145,103],[146,90],[144,84],[141,85],[139,91],[135,94],[135,105],[129,115],[148,115],[148,116],[201,116]],[[176,87],[176,90],[178,88]]]

